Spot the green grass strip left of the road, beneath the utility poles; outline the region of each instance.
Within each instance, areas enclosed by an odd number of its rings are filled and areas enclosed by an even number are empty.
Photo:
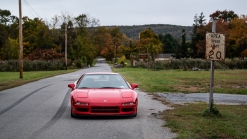
[[[23,78],[20,78],[19,72],[0,72],[0,91],[9,89],[12,87],[20,86],[29,82],[37,81],[43,78],[52,77],[59,74],[65,74],[76,71],[71,70],[58,70],[58,71],[35,71],[35,72],[23,72]]]

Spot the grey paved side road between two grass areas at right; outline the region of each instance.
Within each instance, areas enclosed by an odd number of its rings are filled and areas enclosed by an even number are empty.
[[[209,102],[209,93],[158,93],[158,95],[174,104]],[[247,105],[247,95],[214,93],[213,99],[215,104]]]

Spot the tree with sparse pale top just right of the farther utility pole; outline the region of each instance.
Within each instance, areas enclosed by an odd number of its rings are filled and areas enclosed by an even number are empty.
[[[70,36],[70,58],[83,59],[86,57],[87,65],[92,65],[93,59],[99,54],[99,49],[97,48],[100,46],[95,43],[95,38],[97,38],[99,32],[91,30],[90,27],[97,25],[98,20],[90,19],[87,15],[81,14],[75,17],[73,21],[75,28],[68,29]]]

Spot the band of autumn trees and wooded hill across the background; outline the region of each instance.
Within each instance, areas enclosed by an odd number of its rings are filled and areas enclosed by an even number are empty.
[[[226,58],[247,57],[247,16],[225,10],[215,11],[210,18],[217,20],[217,32],[226,36]],[[61,13],[55,15],[51,23],[42,18],[23,17],[23,58],[64,61],[67,56],[77,67],[91,65],[97,56],[124,60],[147,52],[151,60],[160,53],[172,53],[176,59],[205,59],[205,34],[212,31],[212,22],[205,21],[203,13],[194,16],[191,27],[165,24],[100,26],[98,19],[85,14],[74,17]],[[18,17],[11,15],[9,10],[0,9],[0,61],[18,60],[18,26]]]

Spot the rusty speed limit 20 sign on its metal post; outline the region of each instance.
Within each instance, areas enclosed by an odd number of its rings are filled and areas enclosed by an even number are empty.
[[[213,33],[206,34],[206,59],[211,60],[209,110],[212,111],[214,87],[214,61],[225,59],[225,35],[216,33],[216,21],[213,21]]]

